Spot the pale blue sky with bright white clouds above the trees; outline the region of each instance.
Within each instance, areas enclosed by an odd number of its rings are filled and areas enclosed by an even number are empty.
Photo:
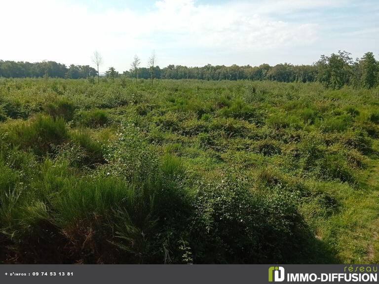
[[[0,0],[0,59],[141,67],[379,59],[378,0]]]

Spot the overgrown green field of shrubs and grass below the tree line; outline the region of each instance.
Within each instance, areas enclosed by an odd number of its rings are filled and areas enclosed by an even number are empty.
[[[379,263],[379,87],[0,78],[0,263]]]

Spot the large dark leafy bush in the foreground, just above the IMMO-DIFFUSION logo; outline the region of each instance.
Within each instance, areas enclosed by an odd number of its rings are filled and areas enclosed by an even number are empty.
[[[295,196],[253,192],[235,178],[198,188],[189,241],[195,263],[278,263],[301,254],[305,229]],[[296,251],[290,258],[289,250]]]

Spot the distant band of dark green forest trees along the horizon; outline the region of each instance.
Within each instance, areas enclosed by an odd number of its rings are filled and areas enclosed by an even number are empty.
[[[371,88],[379,85],[379,61],[372,52],[367,52],[355,61],[350,53],[339,51],[330,56],[322,55],[312,65],[292,65],[288,63],[270,66],[212,66],[187,67],[169,65],[138,68],[138,78],[150,79],[202,79],[202,80],[275,80],[279,82],[321,82],[325,87],[340,89],[343,85]],[[119,73],[110,67],[105,73],[108,78],[135,78],[134,70]],[[97,76],[97,71],[88,66],[70,65],[54,61],[38,63],[14,62],[0,60],[0,77],[53,77],[53,78],[90,78]]]

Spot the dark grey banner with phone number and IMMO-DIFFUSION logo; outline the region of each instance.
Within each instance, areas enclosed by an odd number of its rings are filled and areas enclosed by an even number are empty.
[[[1,265],[2,283],[378,283],[378,265]]]

